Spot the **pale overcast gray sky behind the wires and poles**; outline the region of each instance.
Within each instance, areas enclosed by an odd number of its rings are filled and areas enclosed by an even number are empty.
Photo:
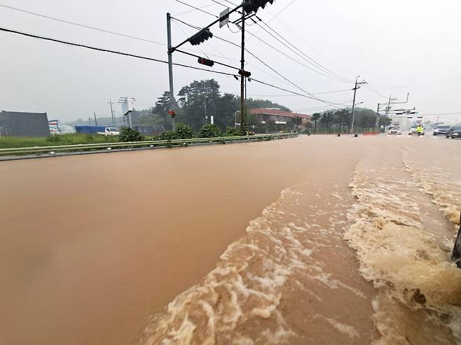
[[[210,13],[219,14],[224,8],[212,0],[183,1],[207,6],[203,10]],[[0,0],[0,4],[164,44],[167,12],[198,26],[213,20],[211,15],[174,0]],[[409,92],[408,106],[415,106],[420,113],[461,113],[460,0],[276,0],[259,10],[258,15],[327,69],[348,80],[355,80],[357,75],[367,80],[378,92],[366,87],[360,89],[357,101],[364,102],[361,106],[376,109],[377,103],[385,102],[390,94],[403,101]],[[0,22],[0,27],[7,29],[166,59],[162,44],[76,27],[1,6]],[[262,41],[310,66],[256,24],[247,29],[247,48],[303,90],[316,94],[353,87],[352,83],[315,73],[252,37],[256,34]],[[178,22],[173,23],[172,31],[174,43],[193,34],[192,29]],[[212,28],[214,34],[239,43],[237,31],[234,25]],[[46,111],[48,118],[63,121],[85,119],[93,112],[109,116],[109,99],[117,101],[123,96],[135,97],[137,109],[148,108],[168,89],[165,64],[6,32],[0,32],[0,42],[0,110]],[[202,55],[198,47],[188,43],[184,48]],[[238,48],[216,38],[200,45],[200,49],[217,61],[239,64]],[[174,62],[200,66],[194,57],[179,54],[174,55]],[[247,62],[247,70],[254,78],[299,91],[254,57],[247,55]],[[233,71],[216,65],[213,69]],[[175,92],[193,80],[205,78],[218,80],[223,92],[239,92],[239,84],[233,77],[179,66],[174,67]],[[312,113],[315,110],[311,108],[324,106],[319,101],[257,83],[248,83],[247,93],[293,110],[303,109],[301,113]],[[317,97],[352,104],[352,91]],[[118,104],[115,108],[120,114]],[[441,119],[461,121],[461,115],[446,115]]]

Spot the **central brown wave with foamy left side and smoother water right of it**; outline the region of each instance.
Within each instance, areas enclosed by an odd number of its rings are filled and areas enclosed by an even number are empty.
[[[317,192],[324,188],[312,188],[316,189],[311,193],[303,188],[284,190],[277,202],[252,220],[246,236],[228,246],[202,283],[151,318],[139,344],[319,344],[332,339],[356,344],[361,338],[371,340],[373,323],[366,323],[371,299],[341,266],[348,260],[356,265],[342,232],[336,231],[343,229],[347,207],[340,206],[344,200],[337,191],[319,201]],[[337,212],[326,211],[322,202]],[[341,207],[344,213],[338,211]],[[351,254],[343,258],[341,251]],[[358,267],[355,271],[362,282]],[[344,313],[338,305],[345,307]],[[369,315],[351,317],[347,311],[353,307],[369,309]]]

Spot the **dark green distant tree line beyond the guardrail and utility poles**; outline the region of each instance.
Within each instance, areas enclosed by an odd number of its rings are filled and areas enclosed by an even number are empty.
[[[188,125],[193,132],[198,133],[203,125],[214,118],[214,124],[223,133],[235,127],[235,113],[240,110],[240,97],[231,93],[220,92],[219,83],[214,79],[194,80],[189,85],[181,87],[175,99],[174,111],[177,114],[177,123]],[[171,118],[168,115],[170,108],[170,92],[165,91],[158,97],[154,106],[149,109],[132,112],[133,125],[154,125],[163,127],[166,132],[172,130]],[[205,118],[205,108],[208,118]],[[247,109],[251,108],[280,108],[282,111],[291,112],[286,106],[263,99],[247,99]],[[111,125],[111,118],[98,118],[98,125]],[[237,122],[239,119],[237,118]],[[251,115],[249,118],[252,123]],[[301,124],[298,118],[297,123]],[[380,118],[380,125],[389,125],[390,120]],[[305,125],[308,130],[315,132],[349,132],[352,123],[350,108],[324,111],[312,114],[312,122]],[[69,125],[94,125],[92,118],[88,121],[78,119],[69,122]],[[116,118],[116,125],[123,125],[123,118]],[[355,128],[374,128],[376,125],[376,112],[367,108],[356,108]]]

